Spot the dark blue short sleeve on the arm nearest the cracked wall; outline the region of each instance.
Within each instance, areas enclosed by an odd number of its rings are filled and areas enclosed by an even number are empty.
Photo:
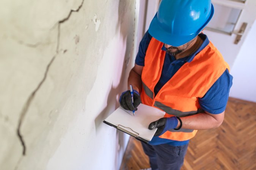
[[[148,45],[149,45],[149,42],[151,41],[151,39],[152,39],[152,36],[147,31],[140,41],[139,51],[138,51],[138,54],[135,59],[135,63],[137,65],[144,66],[146,51],[148,49]]]

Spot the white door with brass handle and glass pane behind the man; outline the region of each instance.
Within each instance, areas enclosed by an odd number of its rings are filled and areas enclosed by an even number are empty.
[[[204,30],[232,68],[256,18],[256,0],[212,0],[214,16]]]

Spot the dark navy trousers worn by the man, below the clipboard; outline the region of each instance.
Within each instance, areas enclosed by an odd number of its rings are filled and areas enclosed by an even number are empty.
[[[188,148],[187,145],[149,145],[141,142],[152,170],[180,170]]]

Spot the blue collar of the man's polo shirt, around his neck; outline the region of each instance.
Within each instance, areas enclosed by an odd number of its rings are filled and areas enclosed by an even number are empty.
[[[203,40],[202,45],[194,53],[190,54],[187,57],[183,57],[181,60],[185,60],[186,62],[192,62],[192,60],[194,59],[196,54],[198,54],[200,51],[202,51],[209,44],[210,41],[205,34],[201,33],[201,34],[198,34],[198,36]],[[166,51],[165,44],[163,44],[162,50]],[[168,54],[168,55],[170,55],[170,54]]]

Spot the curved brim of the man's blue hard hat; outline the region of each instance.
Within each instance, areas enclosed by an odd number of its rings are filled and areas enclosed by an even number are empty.
[[[161,24],[159,23],[159,21],[157,19],[157,13],[156,13],[150,23],[148,32],[152,37],[159,40],[160,42],[166,43],[171,46],[181,46],[181,45],[184,45],[185,43],[189,42],[190,40],[194,39],[198,34],[200,34],[200,32],[204,29],[204,27],[212,19],[213,14],[214,14],[214,7],[212,5],[209,18],[204,23],[204,25],[201,26],[201,28],[198,29],[198,31],[193,34],[181,36],[181,35],[171,34],[170,32],[167,32],[165,29],[163,29],[160,26]]]

